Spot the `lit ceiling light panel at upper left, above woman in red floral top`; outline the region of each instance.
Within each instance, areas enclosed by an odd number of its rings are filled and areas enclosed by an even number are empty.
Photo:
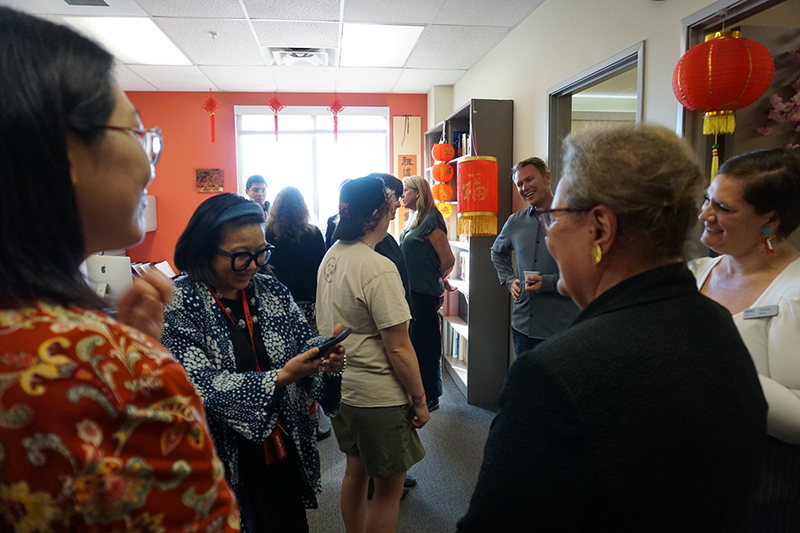
[[[149,18],[63,17],[81,33],[97,40],[128,65],[191,65]]]

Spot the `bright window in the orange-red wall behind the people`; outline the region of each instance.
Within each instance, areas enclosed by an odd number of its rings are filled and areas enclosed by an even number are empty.
[[[284,187],[300,189],[311,223],[324,225],[338,212],[339,184],[348,178],[389,171],[389,108],[346,108],[339,114],[339,142],[333,115],[324,107],[289,107],[275,118],[266,106],[235,106],[239,192],[253,174],[267,181],[272,202]]]

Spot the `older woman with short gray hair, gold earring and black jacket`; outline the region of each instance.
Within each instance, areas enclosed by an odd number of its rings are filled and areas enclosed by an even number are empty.
[[[517,359],[458,531],[742,531],[766,403],[683,244],[703,176],[660,126],[566,141],[540,213],[573,325]]]

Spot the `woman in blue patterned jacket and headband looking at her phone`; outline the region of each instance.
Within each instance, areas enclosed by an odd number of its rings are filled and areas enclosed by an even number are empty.
[[[319,353],[289,290],[257,273],[271,248],[260,206],[230,193],[200,204],[175,248],[186,276],[163,343],[203,399],[242,531],[307,532],[321,483],[306,397],[335,412],[346,363],[341,345]]]

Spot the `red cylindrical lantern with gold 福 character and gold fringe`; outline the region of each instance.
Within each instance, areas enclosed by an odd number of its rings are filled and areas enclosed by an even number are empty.
[[[497,159],[458,160],[458,234],[497,235]]]

